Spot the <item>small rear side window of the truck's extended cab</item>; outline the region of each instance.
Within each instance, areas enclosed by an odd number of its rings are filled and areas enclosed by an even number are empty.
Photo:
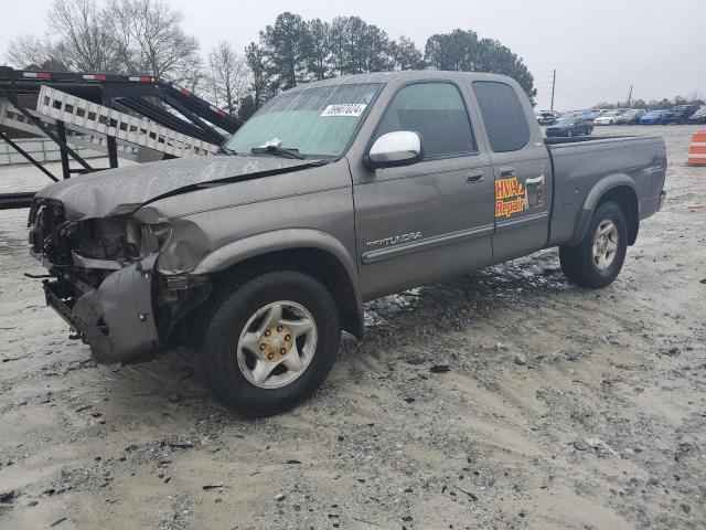
[[[530,126],[512,86],[477,81],[473,83],[473,92],[481,107],[491,149],[507,152],[525,147],[530,141]]]

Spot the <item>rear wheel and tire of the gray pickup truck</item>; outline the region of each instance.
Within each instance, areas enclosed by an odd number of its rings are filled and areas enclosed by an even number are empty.
[[[610,248],[614,245],[612,256],[606,251],[602,261],[596,257],[595,239],[599,227],[603,231],[614,227],[614,239],[611,239],[612,230],[607,233],[608,241],[598,243],[598,251]],[[584,239],[576,246],[559,247],[559,262],[561,271],[569,282],[581,287],[601,288],[610,285],[620,274],[628,252],[628,223],[621,208],[614,202],[600,204],[588,225]],[[602,254],[599,252],[598,254]],[[602,262],[602,263],[601,263]],[[601,265],[599,265],[601,263]]]

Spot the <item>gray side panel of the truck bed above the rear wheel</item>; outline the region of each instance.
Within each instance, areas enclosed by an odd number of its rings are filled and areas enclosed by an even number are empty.
[[[547,246],[570,241],[586,199],[607,176],[629,179],[628,186],[640,198],[640,219],[659,210],[666,168],[666,149],[660,136],[545,138],[544,142],[554,174]]]

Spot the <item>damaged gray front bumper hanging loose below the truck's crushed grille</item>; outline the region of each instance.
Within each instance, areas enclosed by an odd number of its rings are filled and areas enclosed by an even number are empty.
[[[44,282],[46,304],[78,331],[96,362],[130,362],[160,350],[152,304],[156,261],[157,254],[120,268],[97,288]]]

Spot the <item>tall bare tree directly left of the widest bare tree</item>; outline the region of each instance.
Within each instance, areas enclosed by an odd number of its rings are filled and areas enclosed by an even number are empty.
[[[72,70],[116,73],[120,64],[95,0],[55,0],[46,21],[58,36],[56,59]]]

